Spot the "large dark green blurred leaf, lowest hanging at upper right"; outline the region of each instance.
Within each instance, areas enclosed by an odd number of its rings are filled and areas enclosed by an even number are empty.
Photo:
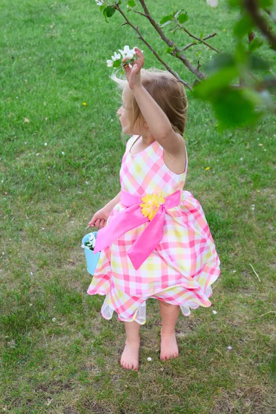
[[[252,125],[262,116],[262,112],[255,110],[255,99],[243,90],[224,88],[211,103],[217,118],[226,128]]]

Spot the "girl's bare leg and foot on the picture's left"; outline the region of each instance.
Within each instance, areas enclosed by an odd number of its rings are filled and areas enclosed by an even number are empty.
[[[124,322],[124,324],[126,329],[126,345],[124,352],[121,354],[121,366],[137,371],[139,366],[140,325],[135,321]]]

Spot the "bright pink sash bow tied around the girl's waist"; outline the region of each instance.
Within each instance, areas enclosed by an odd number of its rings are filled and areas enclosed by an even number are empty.
[[[164,197],[164,199],[164,204],[160,204],[155,216],[152,220],[149,220],[148,217],[144,217],[141,213],[141,198],[121,190],[121,204],[126,209],[98,231],[94,253],[98,253],[103,248],[111,246],[112,242],[128,230],[149,221],[143,233],[139,235],[138,239],[128,250],[128,257],[133,267],[137,270],[161,242],[164,235],[163,226],[166,210],[180,204],[181,190],[175,191],[175,193]]]

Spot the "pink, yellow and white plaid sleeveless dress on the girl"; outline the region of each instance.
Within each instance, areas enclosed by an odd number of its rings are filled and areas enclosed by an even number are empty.
[[[172,172],[164,163],[163,148],[157,141],[132,155],[130,148],[136,140],[134,135],[126,144],[120,170],[121,189],[139,197],[153,193],[166,197],[181,190],[181,202],[166,210],[164,236],[137,270],[127,253],[148,222],[128,230],[101,250],[88,294],[106,295],[101,307],[105,319],[111,319],[116,311],[120,321],[143,325],[149,297],[179,305],[186,316],[190,315],[190,308],[210,306],[211,284],[219,277],[220,261],[199,201],[182,190],[187,166],[182,174]],[[119,202],[106,226],[124,208]]]

